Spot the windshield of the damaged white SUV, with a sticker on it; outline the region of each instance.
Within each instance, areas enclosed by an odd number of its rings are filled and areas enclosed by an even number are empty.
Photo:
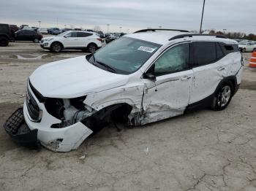
[[[89,61],[90,63],[100,63],[118,74],[131,74],[148,61],[148,58],[154,55],[159,47],[161,44],[121,37],[99,49],[92,56],[94,59],[90,58]]]

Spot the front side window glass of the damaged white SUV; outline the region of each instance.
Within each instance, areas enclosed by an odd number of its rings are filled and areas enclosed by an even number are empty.
[[[157,76],[189,68],[189,44],[179,44],[167,50],[155,62]]]

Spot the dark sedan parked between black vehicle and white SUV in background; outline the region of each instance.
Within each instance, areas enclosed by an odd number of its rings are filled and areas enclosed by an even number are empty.
[[[20,30],[15,32],[15,41],[32,41],[39,42],[42,39],[42,34],[38,34],[32,30]]]

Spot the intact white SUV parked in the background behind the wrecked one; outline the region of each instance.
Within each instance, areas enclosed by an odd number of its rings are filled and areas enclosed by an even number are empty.
[[[95,52],[102,47],[102,39],[89,31],[65,31],[57,36],[43,38],[40,46],[53,52],[61,52],[64,49]]]

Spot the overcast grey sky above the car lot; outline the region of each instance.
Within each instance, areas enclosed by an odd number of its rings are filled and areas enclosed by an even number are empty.
[[[94,28],[199,30],[203,0],[0,0],[0,23]],[[256,0],[206,0],[203,29],[256,34]]]

